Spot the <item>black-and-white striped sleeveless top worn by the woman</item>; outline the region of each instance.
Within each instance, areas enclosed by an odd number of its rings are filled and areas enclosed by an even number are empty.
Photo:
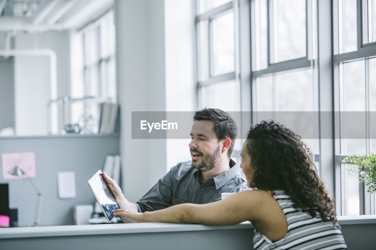
[[[340,228],[335,228],[332,222],[324,222],[320,215],[312,217],[308,212],[293,208],[291,197],[284,191],[274,191],[273,197],[286,216],[287,234],[279,241],[272,242],[255,229],[253,235],[255,250],[347,249]]]

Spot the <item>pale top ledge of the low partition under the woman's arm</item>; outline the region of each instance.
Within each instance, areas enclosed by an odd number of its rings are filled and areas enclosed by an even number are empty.
[[[376,224],[376,215],[338,216],[338,223],[345,224]],[[249,222],[231,226],[206,226],[200,224],[174,223],[129,223],[129,224],[97,224],[72,226],[39,226],[0,228],[0,239],[29,238],[68,235],[103,235],[124,233],[182,232],[222,229],[252,229]]]

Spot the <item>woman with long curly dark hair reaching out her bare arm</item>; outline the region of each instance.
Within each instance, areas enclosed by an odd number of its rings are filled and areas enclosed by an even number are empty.
[[[241,151],[243,191],[204,205],[185,203],[144,213],[114,210],[138,222],[230,225],[251,221],[255,249],[347,249],[333,201],[309,150],[293,131],[274,121],[252,126]]]

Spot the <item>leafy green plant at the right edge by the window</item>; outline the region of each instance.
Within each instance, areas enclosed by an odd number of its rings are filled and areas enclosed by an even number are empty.
[[[376,155],[369,152],[368,155],[351,155],[342,160],[342,162],[352,162],[358,165],[358,169],[348,169],[346,171],[358,176],[359,182],[367,185],[367,192],[376,191]],[[365,172],[363,168],[369,168],[369,172]]]

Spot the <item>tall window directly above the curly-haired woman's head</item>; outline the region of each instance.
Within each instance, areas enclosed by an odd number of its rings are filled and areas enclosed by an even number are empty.
[[[253,124],[276,119],[296,133],[314,124],[291,119],[318,111],[314,6],[315,1],[251,1]],[[318,157],[313,132],[303,141]]]

